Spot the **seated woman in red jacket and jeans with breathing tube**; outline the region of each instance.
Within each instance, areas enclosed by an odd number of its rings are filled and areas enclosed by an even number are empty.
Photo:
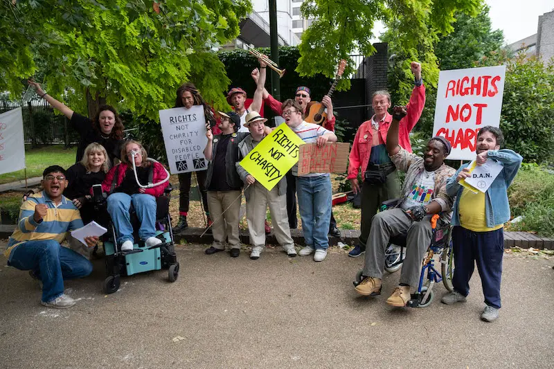
[[[134,162],[134,165],[133,165]],[[152,171],[152,183],[146,188]],[[141,228],[139,237],[146,246],[161,244],[156,234],[156,197],[163,195],[168,186],[169,173],[158,162],[149,161],[143,145],[127,141],[121,148],[121,163],[111,168],[102,182],[102,191],[108,192],[108,213],[116,228],[117,243],[121,251],[133,249],[133,227],[129,220],[129,208],[134,206]],[[141,183],[141,186],[139,186]]]

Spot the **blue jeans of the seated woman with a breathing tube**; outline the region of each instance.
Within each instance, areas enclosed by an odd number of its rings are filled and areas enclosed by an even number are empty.
[[[118,244],[123,244],[125,241],[134,242],[133,226],[129,214],[131,202],[136,217],[141,222],[139,237],[146,240],[148,237],[156,235],[156,198],[145,193],[135,193],[129,196],[126,193],[118,192],[108,197],[108,213],[116,228]]]

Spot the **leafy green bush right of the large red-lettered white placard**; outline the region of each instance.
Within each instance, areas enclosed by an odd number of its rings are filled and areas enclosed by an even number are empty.
[[[506,147],[528,163],[553,160],[554,63],[544,66],[537,57],[524,53],[491,53],[477,66],[506,65],[506,83],[500,127]]]

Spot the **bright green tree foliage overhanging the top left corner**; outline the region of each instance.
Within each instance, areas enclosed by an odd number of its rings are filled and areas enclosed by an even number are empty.
[[[144,0],[2,0],[22,19],[12,30],[8,64],[0,88],[18,93],[17,83],[44,64],[48,93],[89,114],[107,102],[156,118],[172,107],[179,84],[193,80],[206,100],[226,107],[224,65],[212,52],[240,32],[248,0],[163,2]],[[28,42],[15,46],[21,35]],[[15,53],[18,60],[6,60]],[[33,60],[25,57],[33,55]],[[21,60],[24,63],[17,64]],[[87,97],[85,99],[85,97]]]

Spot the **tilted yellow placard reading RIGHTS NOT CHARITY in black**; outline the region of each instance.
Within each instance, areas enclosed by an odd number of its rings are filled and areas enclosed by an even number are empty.
[[[287,125],[280,125],[258,143],[240,161],[262,186],[271,190],[280,179],[298,162],[298,147],[303,141]]]

